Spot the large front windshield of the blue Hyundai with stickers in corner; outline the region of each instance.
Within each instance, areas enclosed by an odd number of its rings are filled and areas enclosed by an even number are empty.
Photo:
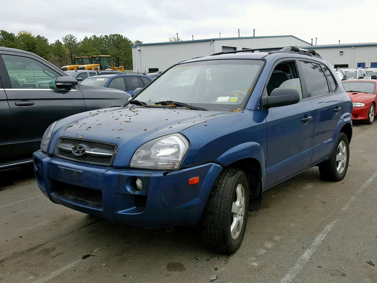
[[[263,64],[263,60],[211,60],[177,65],[135,99],[148,104],[173,100],[207,110],[234,110],[247,101]]]

